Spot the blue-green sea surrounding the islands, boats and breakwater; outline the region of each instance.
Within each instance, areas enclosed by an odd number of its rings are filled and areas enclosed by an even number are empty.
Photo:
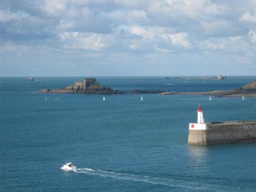
[[[256,77],[96,78],[117,90],[180,92],[233,89]],[[206,121],[250,120],[256,119],[256,98],[126,94],[102,101],[102,95],[36,92],[82,77],[24,79],[0,77],[0,191],[256,189],[256,143],[187,145],[199,104]],[[77,172],[60,169],[67,161]]]

